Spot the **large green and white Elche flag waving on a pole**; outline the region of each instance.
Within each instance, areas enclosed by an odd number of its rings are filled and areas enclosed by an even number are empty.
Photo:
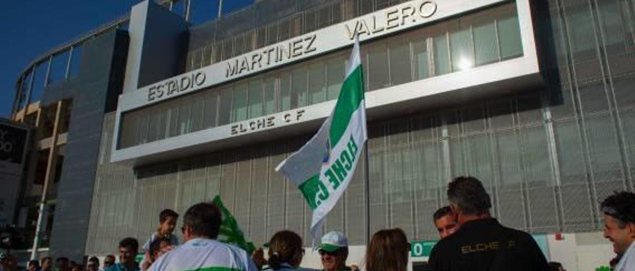
[[[276,167],[276,171],[295,182],[311,206],[314,247],[321,237],[326,214],[352,180],[366,139],[364,80],[356,37],[344,84],[331,115],[307,144]]]

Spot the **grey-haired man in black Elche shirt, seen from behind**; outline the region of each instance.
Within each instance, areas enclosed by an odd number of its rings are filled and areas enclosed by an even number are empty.
[[[504,227],[491,217],[490,195],[481,181],[455,178],[448,184],[448,201],[460,229],[432,248],[429,270],[549,270],[529,234]]]

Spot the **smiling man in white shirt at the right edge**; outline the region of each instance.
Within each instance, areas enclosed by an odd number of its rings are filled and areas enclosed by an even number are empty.
[[[615,271],[635,270],[635,194],[615,192],[602,201],[604,237],[613,243],[613,251],[621,255]]]

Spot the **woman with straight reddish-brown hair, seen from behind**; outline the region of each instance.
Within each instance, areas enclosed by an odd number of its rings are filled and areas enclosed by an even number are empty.
[[[406,271],[410,244],[403,230],[380,230],[366,247],[366,270]]]

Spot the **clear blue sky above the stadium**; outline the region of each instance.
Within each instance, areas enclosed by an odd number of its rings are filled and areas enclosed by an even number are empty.
[[[15,83],[22,70],[38,56],[130,12],[140,0],[26,0],[11,1],[0,9],[0,117],[9,117]],[[253,0],[224,0],[228,13]],[[192,0],[201,16],[217,13],[218,0]]]

